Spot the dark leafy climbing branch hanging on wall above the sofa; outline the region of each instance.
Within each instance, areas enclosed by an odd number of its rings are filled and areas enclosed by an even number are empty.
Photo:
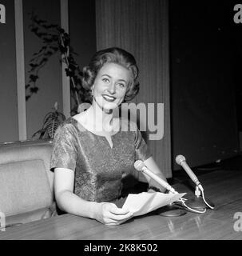
[[[31,14],[30,30],[42,40],[42,48],[33,54],[30,59],[30,70],[28,71],[29,80],[26,84],[26,101],[37,94],[38,79],[40,70],[46,66],[49,59],[59,53],[60,62],[66,65],[65,74],[70,78],[70,92],[74,99],[75,106],[72,108],[72,114],[77,113],[77,107],[81,102],[88,102],[87,94],[81,85],[81,70],[74,59],[77,55],[73,47],[70,46],[69,34],[60,26],[48,24],[45,20],[39,19],[36,14]]]

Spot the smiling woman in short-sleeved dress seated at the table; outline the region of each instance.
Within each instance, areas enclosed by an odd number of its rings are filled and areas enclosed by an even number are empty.
[[[98,51],[83,69],[92,105],[65,120],[54,137],[51,168],[61,210],[118,225],[133,216],[113,201],[121,197],[122,180],[137,159],[165,180],[137,126],[113,118],[113,111],[137,94],[137,77],[135,58],[120,48]]]

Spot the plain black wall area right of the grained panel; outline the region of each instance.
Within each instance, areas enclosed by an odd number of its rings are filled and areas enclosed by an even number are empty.
[[[239,152],[234,5],[170,1],[173,159],[184,154],[191,166]]]

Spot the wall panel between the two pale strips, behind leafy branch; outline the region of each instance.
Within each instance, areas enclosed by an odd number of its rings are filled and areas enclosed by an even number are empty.
[[[29,28],[32,12],[49,24],[61,25],[60,1],[23,0],[26,83],[29,79],[30,59],[33,58],[35,52],[42,48],[41,40]],[[60,59],[60,54],[55,54],[50,58],[46,66],[40,70],[37,82],[39,87],[38,94],[33,94],[26,101],[27,138],[31,138],[34,132],[42,128],[43,119],[48,112],[53,110],[55,102],[58,102],[59,110],[62,111]]]

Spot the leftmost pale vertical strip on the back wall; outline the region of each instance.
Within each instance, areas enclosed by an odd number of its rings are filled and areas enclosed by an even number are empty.
[[[26,140],[26,83],[25,57],[23,37],[22,0],[14,0],[15,10],[15,40],[16,40],[16,70],[18,94],[18,138]]]

